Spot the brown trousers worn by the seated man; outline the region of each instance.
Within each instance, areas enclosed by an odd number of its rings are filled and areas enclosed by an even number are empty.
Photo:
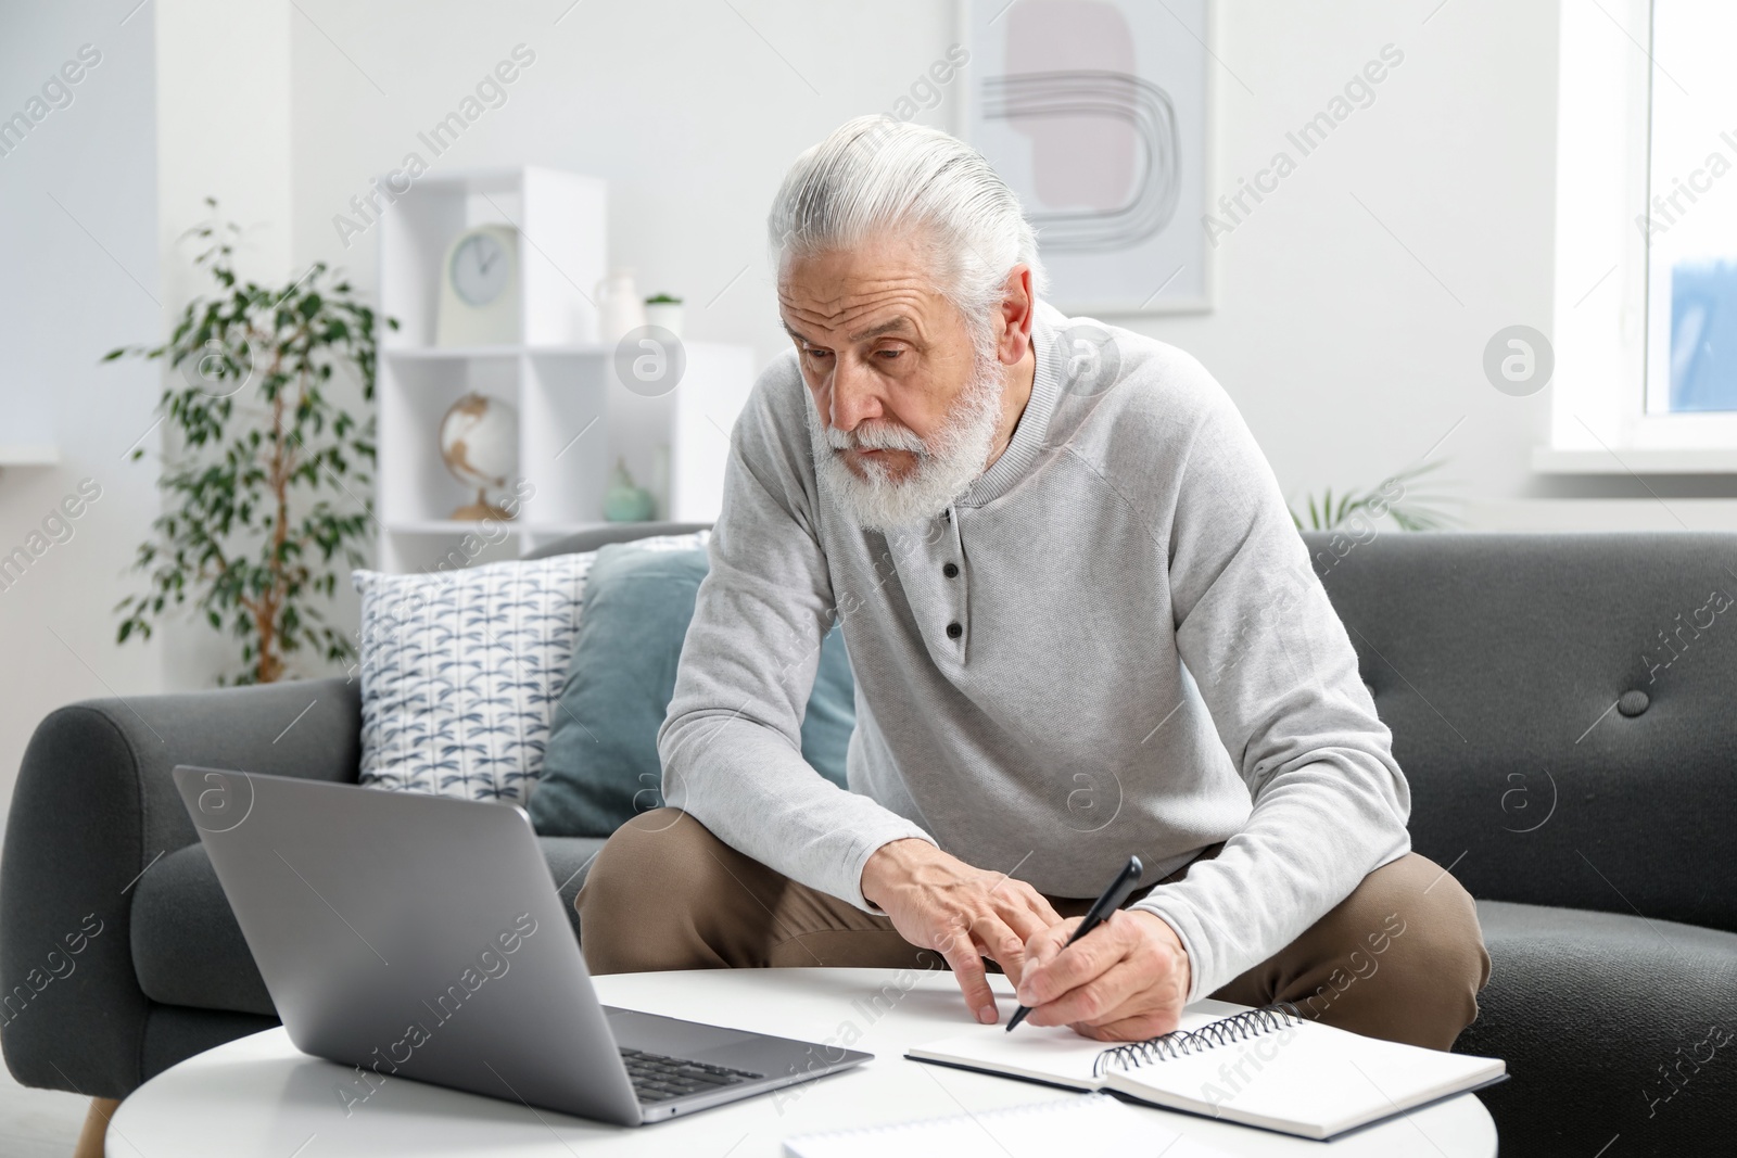
[[[1186,875],[1183,866],[1159,884]],[[1077,917],[1091,898],[1049,903]],[[766,868],[679,809],[641,813],[622,825],[591,866],[577,905],[594,974],[947,967],[940,953],[905,941],[886,917]],[[1303,936],[1212,997],[1238,1005],[1292,1002],[1304,1017],[1341,1030],[1449,1049],[1478,1016],[1478,990],[1489,977],[1471,898],[1435,861],[1410,852],[1364,877]]]

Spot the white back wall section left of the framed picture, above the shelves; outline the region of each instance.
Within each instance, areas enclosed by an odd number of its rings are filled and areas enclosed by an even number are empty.
[[[377,236],[346,247],[332,219],[412,149],[431,172],[538,163],[596,174],[610,182],[611,260],[632,266],[643,292],[684,297],[690,337],[749,340],[764,361],[787,342],[763,240],[778,179],[839,122],[889,109],[954,40],[954,9],[733,5],[742,16],[716,0],[587,0],[558,24],[568,0],[301,2],[297,259],[342,262],[372,286]],[[417,134],[518,43],[535,63],[507,102],[434,158]],[[947,116],[943,106],[928,120]]]

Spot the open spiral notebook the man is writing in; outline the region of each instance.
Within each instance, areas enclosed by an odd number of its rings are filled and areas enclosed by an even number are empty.
[[[1030,1031],[1027,1031],[1030,1030]],[[983,1026],[907,1050],[1077,1090],[1325,1139],[1504,1076],[1497,1057],[1397,1045],[1304,1021],[1291,1005],[1195,1002],[1174,1033],[1105,1049],[1067,1028]]]

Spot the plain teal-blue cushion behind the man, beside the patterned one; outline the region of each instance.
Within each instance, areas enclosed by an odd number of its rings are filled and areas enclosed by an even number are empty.
[[[598,550],[542,780],[526,806],[538,833],[608,837],[634,813],[664,804],[657,729],[676,694],[676,663],[705,571],[703,549]],[[855,677],[834,627],[802,719],[802,757],[841,788],[855,727]]]

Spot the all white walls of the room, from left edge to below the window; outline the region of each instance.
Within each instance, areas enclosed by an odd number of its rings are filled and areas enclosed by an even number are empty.
[[[104,483],[75,540],[0,592],[5,641],[30,656],[0,675],[0,778],[50,707],[99,694],[104,681],[129,694],[201,684],[228,656],[224,641],[188,627],[170,634],[162,677],[149,648],[109,642],[109,608],[135,587],[120,571],[155,510],[118,455],[149,424],[155,384],[146,368],[92,363],[113,344],[156,339],[162,316],[47,189],[174,309],[196,286],[172,238],[207,193],[257,226],[245,260],[261,280],[327,259],[372,293],[375,236],[346,245],[334,217],[408,151],[436,170],[532,161],[598,174],[611,188],[611,260],[634,266],[646,292],[686,297],[695,339],[747,340],[764,361],[785,342],[763,248],[785,165],[848,116],[893,108],[959,28],[950,0],[158,0],[125,26],[24,3],[0,7],[0,75],[14,78],[0,108],[78,43],[104,50],[75,104],[0,158],[0,267],[28,271],[0,285],[0,318],[19,335],[7,415],[23,429],[33,411],[14,405],[19,391],[52,396],[66,453],[59,469],[0,477],[0,545],[23,542],[78,477]],[[433,156],[419,132],[519,43],[537,56],[507,102]],[[1200,356],[1292,495],[1377,481],[1452,431],[1435,458],[1473,526],[1661,517],[1629,481],[1532,476],[1548,394],[1499,394],[1480,368],[1496,330],[1551,330],[1556,3],[1219,0],[1219,186],[1263,168],[1388,43],[1405,59],[1374,104],[1219,238],[1218,307],[1115,321]],[[969,76],[921,120],[952,127]],[[1579,493],[1612,502],[1567,498]],[[1697,507],[1702,519],[1730,526],[1730,503]]]

